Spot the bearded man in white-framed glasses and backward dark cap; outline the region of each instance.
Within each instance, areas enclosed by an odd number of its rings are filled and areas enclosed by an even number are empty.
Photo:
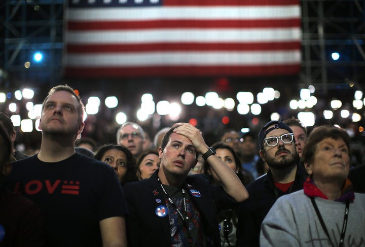
[[[267,174],[247,185],[249,198],[240,205],[236,246],[259,246],[260,228],[276,199],[303,189],[305,170],[300,165],[293,130],[281,121],[268,122],[259,133],[260,157]]]

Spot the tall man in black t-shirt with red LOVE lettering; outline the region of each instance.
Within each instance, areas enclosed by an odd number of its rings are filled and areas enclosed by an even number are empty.
[[[59,85],[43,101],[40,152],[13,163],[13,189],[45,215],[47,246],[126,246],[126,204],[111,166],[75,152],[84,128],[77,90]]]

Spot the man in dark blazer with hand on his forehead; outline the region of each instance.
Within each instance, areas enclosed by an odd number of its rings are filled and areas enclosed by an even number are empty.
[[[188,176],[199,153],[223,185],[210,185],[202,174]],[[248,197],[235,172],[188,123],[166,132],[159,157],[160,168],[151,178],[123,187],[128,246],[221,246],[217,211]]]

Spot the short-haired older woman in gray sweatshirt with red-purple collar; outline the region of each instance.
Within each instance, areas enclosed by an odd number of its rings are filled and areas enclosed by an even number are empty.
[[[347,179],[350,140],[341,128],[313,129],[303,152],[304,189],[278,198],[261,226],[261,246],[365,246],[365,194]]]

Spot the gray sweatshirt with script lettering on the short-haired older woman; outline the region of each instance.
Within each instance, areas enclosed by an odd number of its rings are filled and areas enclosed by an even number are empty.
[[[315,197],[332,242],[340,242],[345,203]],[[279,197],[261,225],[260,246],[331,246],[303,190]],[[350,203],[344,247],[365,247],[365,194]]]

